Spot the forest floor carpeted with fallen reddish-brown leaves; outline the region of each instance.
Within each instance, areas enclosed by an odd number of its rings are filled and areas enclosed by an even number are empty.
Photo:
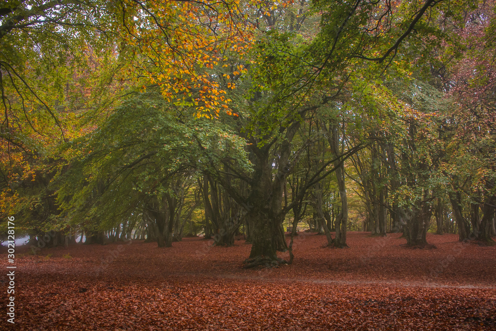
[[[399,234],[295,237],[292,265],[244,269],[250,245],[142,241],[16,247],[15,325],[0,330],[496,330],[496,247]],[[289,238],[288,238],[289,241]],[[280,257],[288,258],[288,253]],[[0,268],[7,273],[2,248]],[[2,306],[8,278],[0,277]],[[4,310],[5,311],[5,310]]]

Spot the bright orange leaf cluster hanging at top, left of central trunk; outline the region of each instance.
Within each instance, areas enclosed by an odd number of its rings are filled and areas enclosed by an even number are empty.
[[[130,71],[120,70],[121,78],[158,85],[167,100],[196,106],[202,114],[215,118],[215,109],[224,108],[220,94],[225,91],[212,71],[223,61],[225,50],[242,59],[253,39],[252,24],[246,22],[238,5],[239,1],[151,2],[137,20],[126,22],[132,27],[121,30],[123,39],[140,54],[133,54]],[[234,75],[238,73],[241,71]],[[228,89],[235,87],[231,82]],[[198,95],[189,95],[196,90]]]

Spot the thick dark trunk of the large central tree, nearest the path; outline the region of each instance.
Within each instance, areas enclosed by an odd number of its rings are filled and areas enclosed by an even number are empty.
[[[253,165],[253,171],[245,181],[249,189],[234,187],[229,180],[231,176],[217,178],[224,190],[247,212],[251,251],[245,267],[273,266],[285,262],[277,257],[276,252],[278,249],[288,249],[282,222],[290,206],[283,207],[283,200],[286,177],[292,168],[289,163],[291,141],[300,126],[301,122],[295,121],[289,127],[281,127],[280,134],[265,143],[261,143],[258,135],[247,137],[250,141],[247,146],[249,158]],[[226,168],[229,171],[229,166],[226,165]]]

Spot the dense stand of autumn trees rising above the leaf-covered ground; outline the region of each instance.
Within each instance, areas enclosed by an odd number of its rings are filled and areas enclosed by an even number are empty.
[[[244,234],[247,267],[297,229],[493,245],[495,30],[492,0],[3,1],[0,217],[34,246]]]

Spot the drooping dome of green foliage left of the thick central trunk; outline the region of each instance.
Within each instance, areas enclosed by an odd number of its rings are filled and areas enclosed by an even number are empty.
[[[125,101],[101,127],[62,146],[72,155],[58,176],[57,201],[73,225],[98,219],[107,229],[141,217],[150,199],[174,195],[172,184],[230,157],[249,168],[244,140],[148,92]],[[192,111],[189,111],[189,115]],[[183,114],[184,115],[184,114]]]

